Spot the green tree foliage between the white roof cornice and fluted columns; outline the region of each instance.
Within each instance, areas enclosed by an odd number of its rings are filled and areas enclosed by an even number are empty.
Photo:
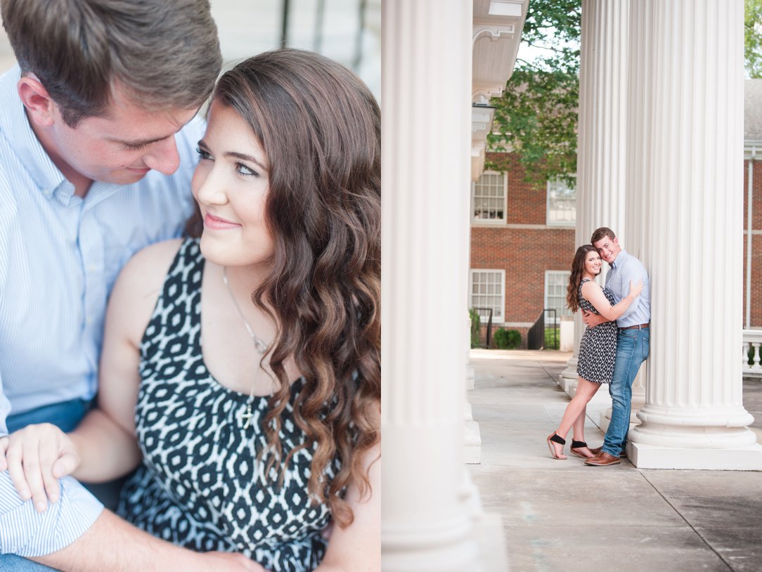
[[[560,177],[570,186],[577,171],[577,108],[581,0],[532,0],[521,42],[531,58],[517,59],[501,97],[489,150],[516,152],[527,181],[544,185]],[[507,170],[498,155],[487,168]]]

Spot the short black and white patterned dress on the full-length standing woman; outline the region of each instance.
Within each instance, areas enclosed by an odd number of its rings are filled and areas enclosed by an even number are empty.
[[[582,284],[590,280],[582,280],[579,284],[579,307],[586,312],[600,314],[594,305],[582,296]],[[610,289],[604,288],[604,296],[614,305],[614,295]],[[579,343],[577,360],[577,375],[588,382],[611,383],[616,361],[616,321],[604,321],[595,328],[585,328]]]

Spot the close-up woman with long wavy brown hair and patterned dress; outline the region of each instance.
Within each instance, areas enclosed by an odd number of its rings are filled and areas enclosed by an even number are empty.
[[[34,439],[62,442],[56,477],[77,457],[83,481],[140,465],[118,512],[175,544],[274,572],[375,569],[379,108],[331,60],[264,53],[219,80],[198,152],[200,238],[130,260],[99,409],[70,440]],[[34,455],[31,438],[11,447]]]

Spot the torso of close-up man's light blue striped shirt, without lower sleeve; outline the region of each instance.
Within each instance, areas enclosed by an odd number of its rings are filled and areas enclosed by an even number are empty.
[[[9,413],[94,396],[111,286],[133,253],[180,235],[203,136],[198,118],[178,133],[171,177],[75,197],[29,126],[18,78],[18,67],[0,77],[0,431]]]

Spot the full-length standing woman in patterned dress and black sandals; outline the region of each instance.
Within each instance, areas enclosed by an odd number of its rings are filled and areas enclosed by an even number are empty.
[[[577,249],[571,262],[571,274],[566,289],[566,304],[571,312],[582,309],[595,312],[609,321],[595,328],[585,328],[579,343],[577,361],[577,391],[569,401],[559,428],[547,440],[553,459],[566,459],[564,445],[566,435],[573,427],[574,439],[570,451],[578,457],[592,457],[593,453],[584,442],[584,417],[588,401],[593,398],[602,383],[610,383],[616,359],[616,319],[624,314],[643,289],[643,283],[629,284],[629,294],[618,304],[607,288],[595,282],[600,274],[600,255],[592,244],[583,244]],[[579,439],[579,440],[577,440]]]

